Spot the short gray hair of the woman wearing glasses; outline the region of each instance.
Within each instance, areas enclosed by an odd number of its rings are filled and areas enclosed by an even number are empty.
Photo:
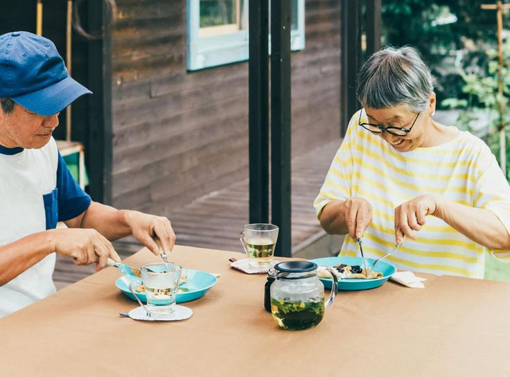
[[[358,100],[374,109],[405,104],[422,112],[433,90],[430,69],[412,46],[386,47],[373,53],[358,76]]]

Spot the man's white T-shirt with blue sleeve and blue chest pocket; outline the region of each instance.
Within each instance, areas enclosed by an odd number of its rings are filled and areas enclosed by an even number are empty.
[[[40,149],[0,146],[0,245],[54,229],[84,212],[90,197],[69,173],[55,140]],[[1,258],[1,252],[0,252]],[[0,317],[55,292],[55,254],[0,286]]]

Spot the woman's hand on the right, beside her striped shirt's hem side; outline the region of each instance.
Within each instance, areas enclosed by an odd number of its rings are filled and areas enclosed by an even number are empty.
[[[416,238],[414,231],[425,225],[425,217],[435,216],[439,211],[439,196],[427,194],[405,202],[395,209],[395,242],[401,245],[404,236]]]

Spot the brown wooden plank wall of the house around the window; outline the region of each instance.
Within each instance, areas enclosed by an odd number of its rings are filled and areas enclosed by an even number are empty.
[[[117,6],[113,204],[170,216],[248,177],[248,64],[186,71],[185,0]],[[337,0],[306,0],[306,48],[292,53],[292,132],[294,156],[340,135]]]

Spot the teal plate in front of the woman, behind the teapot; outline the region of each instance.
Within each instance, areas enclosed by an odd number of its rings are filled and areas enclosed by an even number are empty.
[[[365,258],[367,263],[372,264],[375,259],[373,258]],[[363,266],[363,259],[358,256],[331,256],[329,258],[317,258],[312,259],[310,262],[317,263],[317,265],[324,265],[327,267],[331,267],[333,265],[338,265],[343,263],[344,265],[360,265]],[[337,283],[339,290],[364,290],[377,288],[378,286],[382,286],[385,281],[389,279],[396,272],[396,268],[394,265],[390,265],[385,261],[380,261],[377,263],[376,268],[374,269],[377,272],[383,272],[383,277],[379,279],[342,279]],[[324,287],[331,289],[331,284],[333,281],[331,279],[323,279],[319,278],[320,281],[324,284]]]

